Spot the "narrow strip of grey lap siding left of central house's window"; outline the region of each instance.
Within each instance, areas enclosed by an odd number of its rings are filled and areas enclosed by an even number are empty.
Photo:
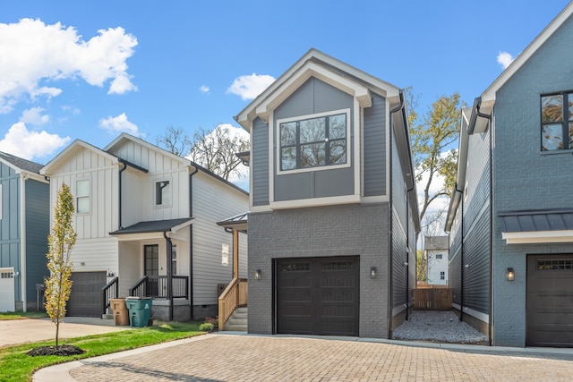
[[[269,205],[269,124],[257,117],[252,122],[252,205]]]

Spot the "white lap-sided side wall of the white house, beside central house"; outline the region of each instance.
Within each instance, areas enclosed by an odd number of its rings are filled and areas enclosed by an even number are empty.
[[[228,284],[233,278],[233,235],[217,222],[247,211],[249,196],[200,171],[192,176],[192,198],[193,304],[216,304],[217,284]],[[246,256],[244,235],[240,240],[240,250],[245,251],[239,256]],[[228,248],[227,265],[222,264],[223,244]]]

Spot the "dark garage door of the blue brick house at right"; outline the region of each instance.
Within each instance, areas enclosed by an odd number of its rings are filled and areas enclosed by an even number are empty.
[[[573,255],[527,256],[527,346],[573,347]]]

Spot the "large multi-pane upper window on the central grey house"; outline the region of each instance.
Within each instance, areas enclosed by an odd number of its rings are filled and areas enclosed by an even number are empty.
[[[348,112],[278,121],[280,171],[346,165]]]

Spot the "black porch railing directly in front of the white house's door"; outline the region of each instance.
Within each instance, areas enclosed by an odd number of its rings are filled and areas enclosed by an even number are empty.
[[[173,298],[189,300],[189,277],[172,276]],[[130,296],[167,299],[167,276],[143,276],[129,288]]]

